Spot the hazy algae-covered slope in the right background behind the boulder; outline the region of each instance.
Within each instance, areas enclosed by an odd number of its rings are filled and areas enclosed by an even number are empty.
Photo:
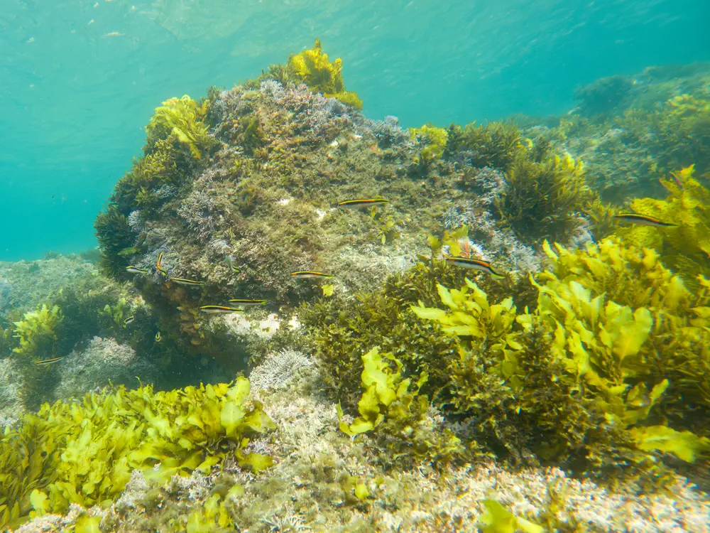
[[[709,63],[596,80],[580,87],[576,109],[542,130],[586,161],[606,200],[660,195],[659,177],[692,164],[697,176],[710,171],[709,82]]]

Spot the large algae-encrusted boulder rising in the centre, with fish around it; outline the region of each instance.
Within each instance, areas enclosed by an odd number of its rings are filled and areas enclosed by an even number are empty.
[[[440,235],[454,218],[471,226],[471,254],[499,259],[508,271],[540,269],[533,246],[548,229],[562,242],[579,240],[586,224],[576,211],[588,193],[584,174],[549,144],[526,147],[510,124],[469,125],[453,140],[449,132],[457,129],[427,125],[413,139],[392,117],[366,119],[305,85],[263,76],[212,90],[199,103],[183,97],[201,110],[202,118],[190,112],[186,119],[195,123],[192,136],[155,119],[146,155],[97,218],[104,271],[131,279],[163,328],[180,331],[174,337],[180,349],[237,370],[241,357],[228,355],[234,345],[226,330],[200,313],[201,306],[264,298],[268,311],[284,306],[288,321],[291,308],[326,290],[352,297],[376,289],[428,251],[422,234]],[[202,145],[213,148],[198,150],[198,157],[190,139],[205,131],[214,142]],[[501,146],[476,144],[489,137]],[[422,156],[427,149],[430,156]],[[476,168],[469,155],[481,150],[495,151],[491,157],[507,161],[506,168]],[[548,179],[538,190],[533,182],[540,176]],[[166,187],[170,194],[161,192]],[[388,202],[337,207],[355,198]],[[524,215],[530,205],[534,212]],[[138,274],[127,274],[129,265]],[[303,270],[333,278],[290,276]],[[179,286],[173,277],[194,286]]]

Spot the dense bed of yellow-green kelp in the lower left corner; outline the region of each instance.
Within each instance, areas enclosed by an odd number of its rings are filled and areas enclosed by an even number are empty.
[[[239,377],[169,392],[119,387],[79,403],[44,404],[0,438],[0,528],[66,512],[71,503],[110,503],[133,469],[164,482],[209,473],[226,457],[257,472],[268,468],[271,458],[245,447],[274,424],[248,395],[249,380]]]

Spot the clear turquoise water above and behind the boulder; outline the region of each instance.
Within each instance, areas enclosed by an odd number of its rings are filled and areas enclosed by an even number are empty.
[[[153,108],[315,37],[369,117],[447,125],[560,113],[599,77],[709,60],[709,20],[706,0],[4,0],[0,260],[94,247]]]

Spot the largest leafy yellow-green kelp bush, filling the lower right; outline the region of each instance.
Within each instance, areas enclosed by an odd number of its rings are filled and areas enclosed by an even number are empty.
[[[468,280],[439,286],[448,309],[412,308],[467,340],[448,388],[457,412],[481,421],[480,443],[581,453],[597,468],[710,451],[710,281],[691,294],[652,249],[618,239],[557,250],[545,243],[552,268],[532,280],[535,313],[491,305]]]

